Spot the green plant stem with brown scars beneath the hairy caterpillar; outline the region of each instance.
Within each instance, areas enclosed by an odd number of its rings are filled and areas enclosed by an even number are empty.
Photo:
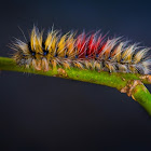
[[[36,74],[43,74],[50,77],[60,77],[65,79],[72,79],[78,81],[91,82],[95,84],[107,85],[110,87],[115,87],[121,91],[125,87],[128,81],[139,80],[142,83],[150,84],[150,76],[140,76],[135,73],[109,73],[106,71],[97,72],[94,70],[81,70],[78,68],[64,69],[61,67],[58,69],[53,69],[47,72],[37,71],[33,69],[27,69],[24,67],[18,67],[12,58],[0,57],[0,70],[10,70],[18,72],[29,72]],[[134,91],[135,90],[135,91]],[[151,95],[145,85],[136,85],[132,92],[133,98],[135,98],[151,115]],[[125,92],[127,93],[127,92]]]

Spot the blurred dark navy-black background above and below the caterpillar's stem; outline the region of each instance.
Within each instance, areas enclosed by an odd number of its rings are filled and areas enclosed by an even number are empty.
[[[151,2],[0,1],[0,56],[12,51],[18,26],[64,32],[102,29],[151,46]],[[151,86],[148,85],[151,91]],[[151,150],[151,118],[114,88],[58,78],[1,71],[0,148],[19,151]]]

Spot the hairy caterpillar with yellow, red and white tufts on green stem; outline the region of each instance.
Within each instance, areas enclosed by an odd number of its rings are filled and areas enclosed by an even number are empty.
[[[98,72],[150,73],[150,47],[131,44],[121,37],[107,38],[99,31],[63,35],[52,28],[44,38],[43,31],[33,26],[29,41],[16,39],[11,49],[17,65],[35,70],[74,67]]]

